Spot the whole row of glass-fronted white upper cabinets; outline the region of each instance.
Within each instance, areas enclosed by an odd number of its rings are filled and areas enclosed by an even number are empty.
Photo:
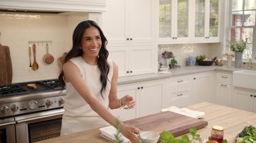
[[[158,44],[220,42],[218,0],[160,0]]]

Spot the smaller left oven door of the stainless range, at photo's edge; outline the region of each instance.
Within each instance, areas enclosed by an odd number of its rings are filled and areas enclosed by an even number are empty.
[[[15,143],[15,121],[13,117],[0,119],[0,142]]]

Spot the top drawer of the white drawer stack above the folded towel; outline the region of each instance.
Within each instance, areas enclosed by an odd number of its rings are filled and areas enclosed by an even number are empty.
[[[167,87],[173,88],[173,87],[180,87],[180,86],[186,86],[191,85],[191,77],[190,76],[179,76],[179,77],[171,77],[168,79]]]

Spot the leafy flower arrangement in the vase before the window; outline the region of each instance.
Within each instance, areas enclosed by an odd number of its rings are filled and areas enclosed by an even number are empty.
[[[227,42],[227,46],[231,51],[242,53],[246,49],[247,38],[246,38],[246,41],[244,40],[236,41],[235,39],[232,39],[230,41],[226,40],[226,42]]]

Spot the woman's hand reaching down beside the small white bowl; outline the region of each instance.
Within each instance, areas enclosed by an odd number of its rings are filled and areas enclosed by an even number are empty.
[[[138,143],[140,141],[139,137],[136,135],[139,133],[139,129],[136,128],[135,126],[130,126],[130,125],[126,125],[126,124],[122,123],[120,125],[120,128],[121,128],[121,133],[123,134],[123,136],[125,136],[131,142]]]

